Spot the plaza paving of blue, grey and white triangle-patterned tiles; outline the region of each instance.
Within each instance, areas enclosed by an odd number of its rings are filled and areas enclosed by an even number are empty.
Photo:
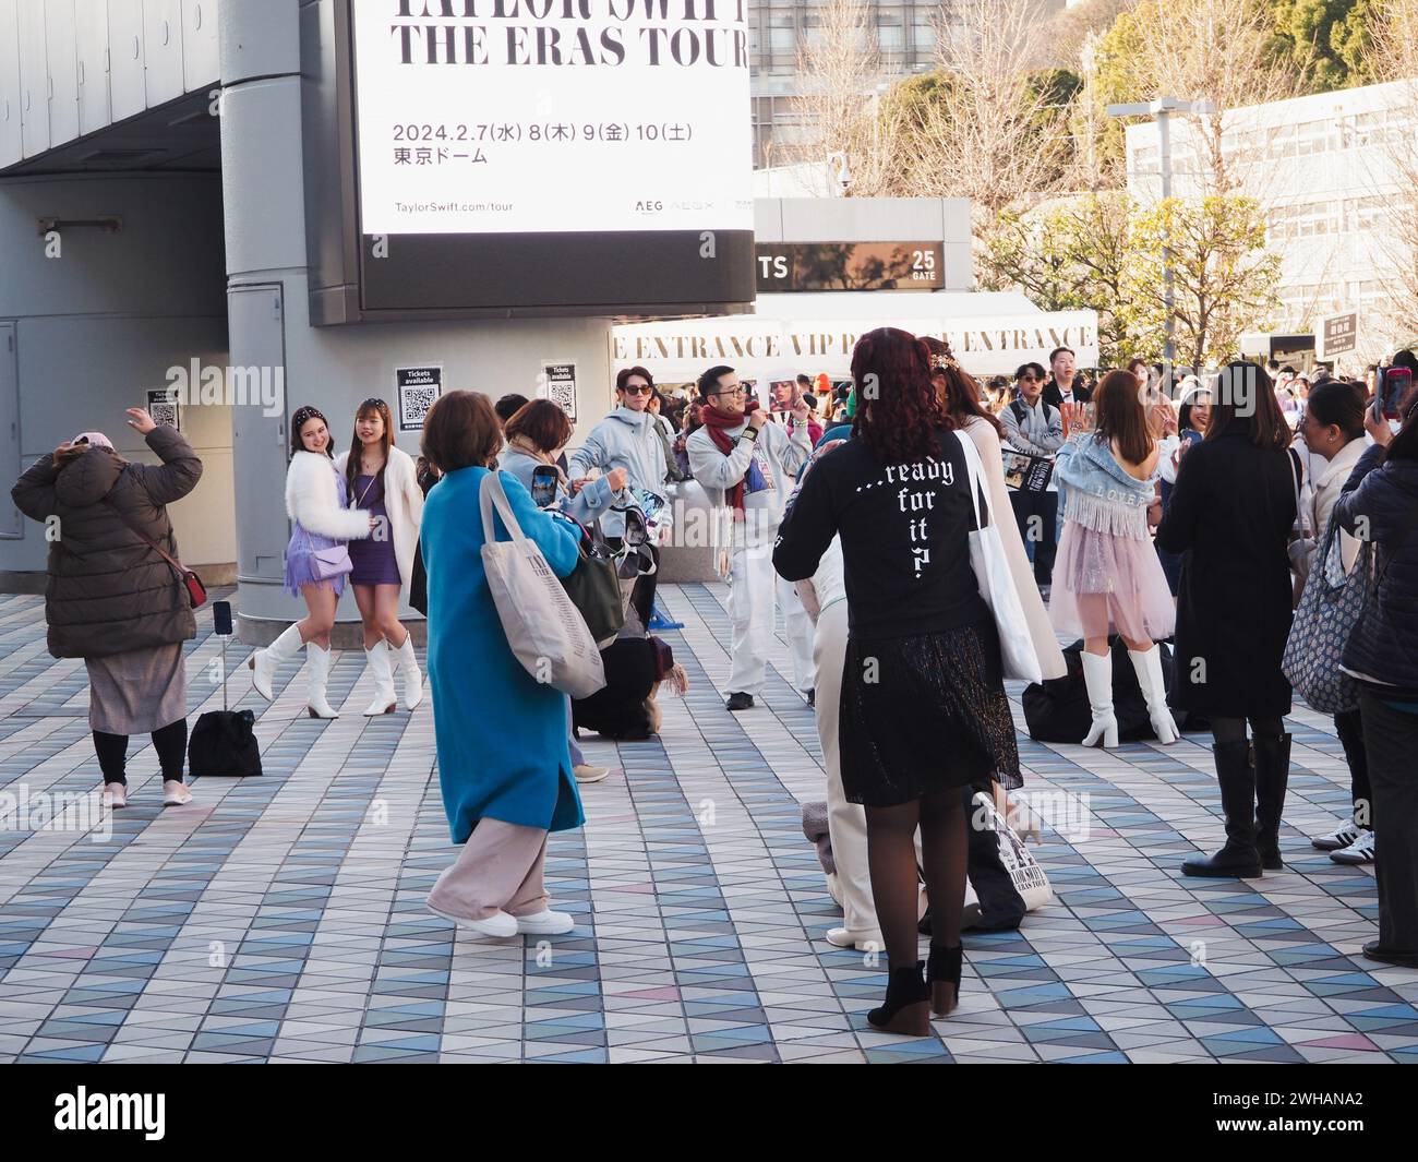
[[[424,909],[455,856],[427,702],[312,721],[298,671],[267,704],[230,644],[264,778],[200,779],[191,809],[163,810],[135,739],[126,812],[0,830],[0,1061],[1418,1064],[1418,975],[1358,958],[1371,870],[1306,839],[1349,778],[1305,707],[1288,871],[1239,884],[1178,870],[1221,833],[1205,739],[1105,755],[1021,734],[1028,789],[1088,809],[1086,837],[1046,829],[1037,848],[1055,902],[967,936],[961,1006],[930,1037],[871,1029],[885,963],[824,939],[841,912],[800,826],[821,749],[786,647],[760,705],[729,715],[726,592],[661,593],[691,691],[662,699],[657,739],[583,741],[621,773],[584,787],[587,826],[549,846],[573,932],[479,942]],[[220,644],[199,623],[193,716],[220,705]],[[363,660],[339,654],[332,698],[366,694]],[[40,599],[0,596],[0,792],[95,783],[82,665],[45,653]]]

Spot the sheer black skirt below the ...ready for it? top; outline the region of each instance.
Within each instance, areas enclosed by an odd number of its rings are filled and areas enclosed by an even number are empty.
[[[849,803],[1022,785],[994,621],[847,641],[838,741]]]

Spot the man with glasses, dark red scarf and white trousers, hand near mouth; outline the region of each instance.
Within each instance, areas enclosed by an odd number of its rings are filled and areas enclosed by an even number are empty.
[[[773,646],[774,604],[783,604],[784,616],[794,612],[787,594],[778,596],[773,542],[793,489],[791,477],[803,471],[813,455],[808,407],[798,400],[786,427],[770,423],[757,403],[746,404],[737,373],[725,366],[710,367],[699,376],[699,399],[703,427],[689,437],[685,451],[695,480],[712,501],[732,514],[729,613],[733,643],[725,705],[740,711],[749,709],[753,695],[763,688]]]

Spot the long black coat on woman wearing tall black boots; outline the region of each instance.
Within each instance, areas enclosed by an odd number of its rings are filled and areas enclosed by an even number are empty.
[[[1181,457],[1157,546],[1183,553],[1174,705],[1208,718],[1290,712],[1280,657],[1290,634],[1295,475],[1245,420]]]

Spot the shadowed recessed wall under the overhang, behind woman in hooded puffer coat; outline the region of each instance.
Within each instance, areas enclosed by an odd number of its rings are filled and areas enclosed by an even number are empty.
[[[67,228],[58,257],[47,257],[52,245],[37,233],[40,217],[106,216],[122,218],[119,233]],[[123,455],[152,463],[123,410],[142,406],[145,389],[163,387],[172,366],[193,358],[227,362],[220,182],[189,175],[3,179],[0,254],[0,321],[16,328],[21,467],[85,428],[106,433]],[[184,407],[182,424],[206,472],[197,491],[172,508],[177,543],[189,565],[230,565],[230,409]],[[9,495],[3,499],[9,504]],[[43,570],[45,550],[43,529],[24,521],[18,539],[0,538],[0,573]],[[220,568],[208,573],[221,576]]]

